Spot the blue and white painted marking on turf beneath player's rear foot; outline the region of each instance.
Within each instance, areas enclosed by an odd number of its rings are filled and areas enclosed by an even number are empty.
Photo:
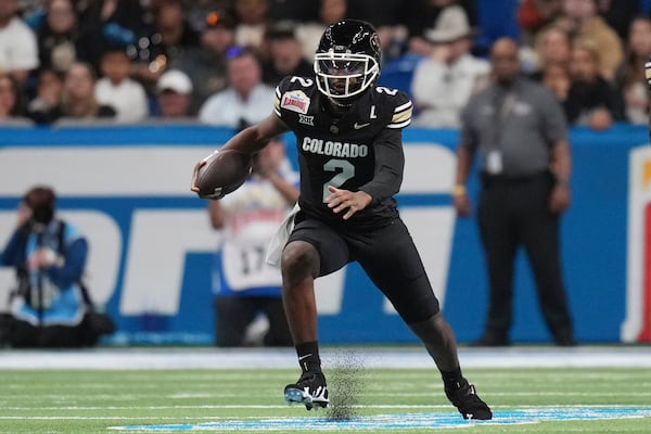
[[[515,410],[494,411],[490,421],[464,420],[452,412],[396,413],[357,416],[348,420],[330,420],[327,417],[267,418],[257,420],[233,419],[219,422],[180,423],[159,425],[112,426],[110,430],[156,432],[156,431],[305,431],[306,426],[320,431],[380,431],[416,429],[452,429],[469,424],[518,424],[548,421],[600,420],[649,418],[651,408],[635,407],[531,407]]]

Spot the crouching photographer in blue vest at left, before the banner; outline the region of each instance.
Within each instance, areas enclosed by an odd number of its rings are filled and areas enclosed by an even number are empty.
[[[14,267],[17,289],[5,340],[13,347],[84,347],[99,333],[88,315],[92,304],[80,280],[88,243],[73,225],[55,217],[55,195],[34,187],[18,205],[17,227],[0,253]]]

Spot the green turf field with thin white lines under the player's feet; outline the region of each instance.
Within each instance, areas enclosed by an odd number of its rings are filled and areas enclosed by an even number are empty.
[[[297,374],[294,369],[1,370],[0,433],[419,434],[457,432],[457,427],[464,434],[651,432],[651,369],[647,368],[467,369],[496,414],[526,409],[532,417],[524,420],[535,422],[527,424],[463,421],[447,403],[434,370],[340,367],[326,373],[332,410],[308,412],[286,407],[282,399],[283,385]],[[623,408],[641,408],[647,416],[618,418],[616,411]],[[565,409],[579,416],[614,409],[615,419],[564,420]],[[536,414],[550,411],[560,418],[536,422]],[[454,425],[441,427],[445,417]],[[350,423],[391,425],[420,419],[422,425],[430,418],[429,427]],[[221,426],[231,422],[239,425]]]

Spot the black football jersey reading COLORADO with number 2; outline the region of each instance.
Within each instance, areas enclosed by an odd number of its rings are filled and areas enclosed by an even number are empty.
[[[396,89],[371,87],[342,115],[328,107],[311,78],[286,77],[276,88],[273,110],[296,136],[301,168],[298,204],[307,216],[343,222],[323,202],[328,186],[363,190],[372,203],[346,221],[350,227],[384,226],[397,216],[394,195],[403,181],[401,129],[412,104]]]

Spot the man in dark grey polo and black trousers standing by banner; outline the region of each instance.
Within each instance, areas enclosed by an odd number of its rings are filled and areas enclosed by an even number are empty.
[[[570,205],[565,116],[551,91],[521,77],[513,40],[497,40],[490,62],[494,82],[470,100],[462,115],[452,193],[458,214],[468,216],[465,180],[478,151],[477,218],[490,294],[485,331],[474,344],[509,344],[513,267],[523,245],[554,343],[574,345],[559,247],[560,216]]]

